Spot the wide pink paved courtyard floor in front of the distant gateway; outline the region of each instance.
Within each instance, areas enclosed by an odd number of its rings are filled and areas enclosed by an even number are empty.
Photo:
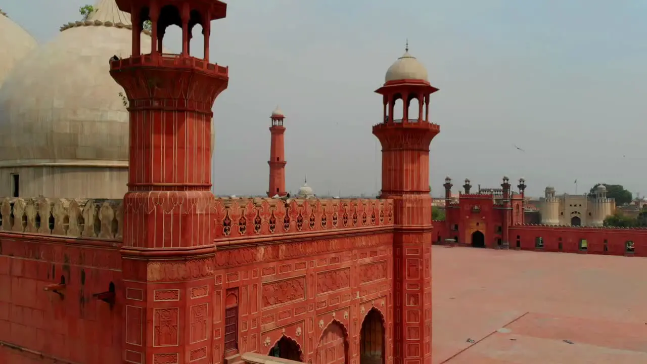
[[[434,246],[432,270],[433,363],[647,363],[647,258]]]

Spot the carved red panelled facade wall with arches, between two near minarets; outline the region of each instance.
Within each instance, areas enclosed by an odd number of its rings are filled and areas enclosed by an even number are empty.
[[[303,361],[313,363],[323,330],[337,321],[344,326],[349,342],[347,363],[358,363],[362,321],[375,307],[386,321],[386,356],[393,356],[393,234],[357,232],[301,240],[236,249],[219,246],[215,259],[215,364],[223,358],[225,306],[236,300],[239,352],[267,355],[285,334],[300,345]]]

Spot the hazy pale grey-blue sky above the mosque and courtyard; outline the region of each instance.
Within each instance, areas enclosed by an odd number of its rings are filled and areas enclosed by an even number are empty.
[[[36,39],[91,0],[4,0]],[[531,195],[620,183],[645,192],[647,1],[237,0],[212,23],[212,62],[230,66],[215,102],[217,194],[267,190],[270,120],[287,117],[287,189],[373,193],[380,153],[373,93],[404,52],[429,72],[433,194],[523,176]],[[179,50],[172,34],[164,45]],[[200,42],[201,40],[197,40]],[[177,43],[177,45],[175,45]],[[197,47],[193,46],[193,49]],[[517,144],[525,150],[516,150]],[[625,155],[626,157],[623,157]],[[642,170],[642,172],[641,172]]]

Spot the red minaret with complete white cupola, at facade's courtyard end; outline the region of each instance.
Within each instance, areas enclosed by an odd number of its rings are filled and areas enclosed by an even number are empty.
[[[406,52],[386,72],[377,89],[382,95],[382,122],[373,134],[382,144],[382,195],[393,199],[393,361],[432,360],[432,198],[429,194],[429,145],[440,132],[429,122],[430,85],[424,66]],[[402,96],[404,95],[404,97]],[[393,119],[396,101],[404,98],[401,120]],[[412,100],[417,115],[409,115]],[[424,107],[424,113],[423,113]],[[388,345],[388,344],[387,344]]]

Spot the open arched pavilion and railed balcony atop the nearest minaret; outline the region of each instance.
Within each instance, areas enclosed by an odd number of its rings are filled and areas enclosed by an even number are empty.
[[[116,3],[120,10],[131,14],[133,50],[129,58],[111,58],[111,71],[133,66],[156,66],[194,69],[210,76],[228,77],[228,67],[209,63],[211,21],[223,19],[226,16],[225,3],[217,0],[193,0],[182,3],[170,0],[116,0]],[[140,36],[145,23],[150,26],[151,51],[148,54],[141,54]],[[181,54],[162,52],[164,33],[171,25],[182,28]],[[190,54],[191,34],[195,25],[201,25],[203,28],[204,58],[196,58]]]

